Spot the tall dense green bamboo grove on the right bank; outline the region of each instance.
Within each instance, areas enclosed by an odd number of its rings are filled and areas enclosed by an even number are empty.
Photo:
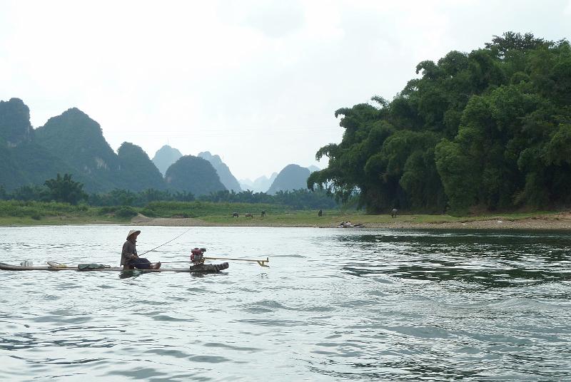
[[[388,102],[341,108],[340,144],[308,187],[368,212],[392,207],[464,215],[470,209],[571,202],[571,48],[530,33],[423,61]]]

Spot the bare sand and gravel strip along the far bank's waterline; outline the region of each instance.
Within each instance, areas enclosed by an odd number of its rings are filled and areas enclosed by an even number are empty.
[[[359,224],[358,220],[353,221]],[[333,228],[338,223],[300,223],[274,222],[271,220],[241,220],[230,224],[206,222],[197,218],[150,218],[143,215],[133,217],[131,224],[138,226],[168,226],[168,227],[320,227]],[[571,213],[557,215],[527,217],[524,219],[504,219],[495,217],[490,220],[475,220],[467,218],[457,222],[410,222],[406,216],[398,217],[389,222],[363,222],[365,228],[393,229],[559,229],[571,230]]]

